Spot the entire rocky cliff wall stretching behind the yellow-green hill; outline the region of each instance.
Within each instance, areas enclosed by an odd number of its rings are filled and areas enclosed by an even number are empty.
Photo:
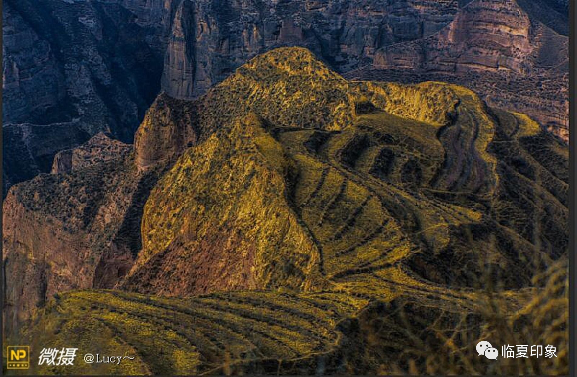
[[[98,132],[131,143],[160,90],[194,99],[286,45],[350,79],[472,86],[567,141],[567,29],[545,0],[6,0],[3,197]]]

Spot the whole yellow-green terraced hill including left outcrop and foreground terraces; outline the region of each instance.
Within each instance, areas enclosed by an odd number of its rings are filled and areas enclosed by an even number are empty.
[[[278,48],[90,145],[6,197],[5,329],[136,361],[40,373],[493,374],[467,339],[537,318],[568,365],[568,148],[522,113]]]

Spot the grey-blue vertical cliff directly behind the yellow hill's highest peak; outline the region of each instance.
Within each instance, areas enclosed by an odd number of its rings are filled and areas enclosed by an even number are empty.
[[[282,45],[309,48],[337,71],[372,62],[384,45],[439,31],[454,1],[183,1],[168,41],[163,89],[194,98],[253,56]]]

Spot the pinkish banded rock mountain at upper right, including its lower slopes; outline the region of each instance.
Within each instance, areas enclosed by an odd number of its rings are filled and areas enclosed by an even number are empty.
[[[347,77],[464,85],[489,105],[526,113],[567,141],[568,23],[539,17],[554,7],[544,1],[471,1],[438,33],[386,45],[373,64]]]

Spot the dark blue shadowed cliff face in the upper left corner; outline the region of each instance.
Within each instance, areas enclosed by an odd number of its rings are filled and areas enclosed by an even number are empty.
[[[160,90],[166,23],[156,0],[3,2],[3,197],[98,132],[132,143]]]

